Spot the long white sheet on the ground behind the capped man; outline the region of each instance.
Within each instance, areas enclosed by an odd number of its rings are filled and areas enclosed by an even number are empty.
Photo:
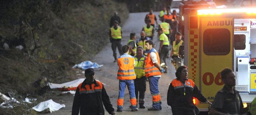
[[[63,87],[70,87],[71,88],[71,87],[77,87],[84,80],[85,80],[85,78],[80,78],[80,79],[76,79],[74,81],[66,82],[66,83],[62,83],[62,84],[48,83],[48,85],[50,86],[51,89],[63,88]]]

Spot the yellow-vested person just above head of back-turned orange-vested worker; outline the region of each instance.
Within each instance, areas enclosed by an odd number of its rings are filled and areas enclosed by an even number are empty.
[[[136,48],[137,45],[135,44],[136,36],[135,33],[130,33],[130,39],[128,40],[127,45],[129,46],[129,55],[135,56],[136,55]]]

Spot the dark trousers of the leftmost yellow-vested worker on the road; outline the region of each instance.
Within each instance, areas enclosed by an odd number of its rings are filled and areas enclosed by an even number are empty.
[[[113,50],[113,56],[114,56],[115,59],[117,59],[116,58],[116,47],[118,49],[119,55],[120,56],[123,55],[121,39],[117,39],[117,40],[116,39],[112,39],[112,41],[111,41],[111,48]]]

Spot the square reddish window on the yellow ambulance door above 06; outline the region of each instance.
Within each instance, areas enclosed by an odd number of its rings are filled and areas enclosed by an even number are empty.
[[[207,29],[203,35],[206,55],[227,55],[230,52],[230,31],[228,29]]]

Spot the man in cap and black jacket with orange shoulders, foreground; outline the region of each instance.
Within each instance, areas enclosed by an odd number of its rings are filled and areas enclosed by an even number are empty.
[[[109,101],[109,96],[103,84],[95,80],[95,73],[92,68],[85,70],[85,81],[80,83],[76,89],[72,115],[104,115],[105,106],[109,114],[115,115],[114,108]]]

